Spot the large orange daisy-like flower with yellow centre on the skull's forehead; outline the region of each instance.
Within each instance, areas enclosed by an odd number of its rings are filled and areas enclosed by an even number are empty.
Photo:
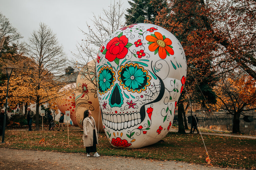
[[[166,55],[170,56],[174,54],[172,41],[169,38],[163,36],[160,32],[155,32],[154,34],[146,36],[146,40],[149,41],[148,49],[150,51],[155,51],[158,53],[161,59],[165,59]]]

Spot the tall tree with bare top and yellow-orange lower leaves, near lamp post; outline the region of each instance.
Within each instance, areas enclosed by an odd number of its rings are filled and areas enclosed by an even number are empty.
[[[31,74],[27,73],[30,80],[24,81],[33,85],[34,94],[23,97],[36,103],[36,129],[39,129],[39,106],[61,96],[59,89],[63,84],[54,81],[54,75],[64,69],[65,53],[56,34],[44,23],[39,24],[39,29],[34,30],[28,40],[26,55],[31,58],[28,65]]]

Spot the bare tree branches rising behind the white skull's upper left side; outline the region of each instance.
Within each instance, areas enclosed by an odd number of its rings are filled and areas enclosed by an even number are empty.
[[[110,4],[108,10],[103,9],[102,15],[93,16],[91,19],[93,26],[91,27],[87,22],[87,31],[82,31],[85,39],[77,45],[78,53],[73,53],[76,57],[76,61],[72,60],[72,63],[79,71],[83,71],[83,74],[89,75],[86,78],[97,87],[96,79],[93,76],[97,76],[95,72],[95,65],[97,62],[97,55],[103,42],[109,37],[115,30],[122,27],[125,23],[124,12],[122,2],[119,0]],[[104,16],[104,17],[102,17]],[[88,65],[88,63],[90,64]]]

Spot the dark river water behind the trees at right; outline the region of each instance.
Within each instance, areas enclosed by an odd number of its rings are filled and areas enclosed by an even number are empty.
[[[218,119],[218,122],[216,119],[199,120],[199,126],[209,128],[211,125],[212,130],[232,131],[232,119]],[[252,122],[249,123],[245,122],[243,119],[240,119],[240,130],[241,133],[244,134],[256,135],[256,120],[254,119]]]

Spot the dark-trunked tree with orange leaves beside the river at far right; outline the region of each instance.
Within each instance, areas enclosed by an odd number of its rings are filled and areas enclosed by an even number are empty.
[[[256,110],[256,81],[244,73],[232,73],[215,86],[218,96],[215,109],[233,115],[232,133],[241,133],[240,116],[250,116]]]

